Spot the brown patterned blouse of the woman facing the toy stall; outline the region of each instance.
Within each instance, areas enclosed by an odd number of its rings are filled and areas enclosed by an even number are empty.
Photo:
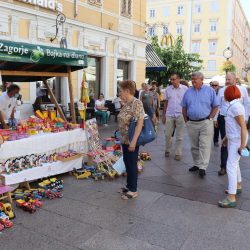
[[[142,102],[138,99],[134,99],[130,103],[125,103],[118,115],[118,127],[121,133],[121,143],[129,145],[128,129],[131,118],[136,120],[144,118],[144,109]]]

